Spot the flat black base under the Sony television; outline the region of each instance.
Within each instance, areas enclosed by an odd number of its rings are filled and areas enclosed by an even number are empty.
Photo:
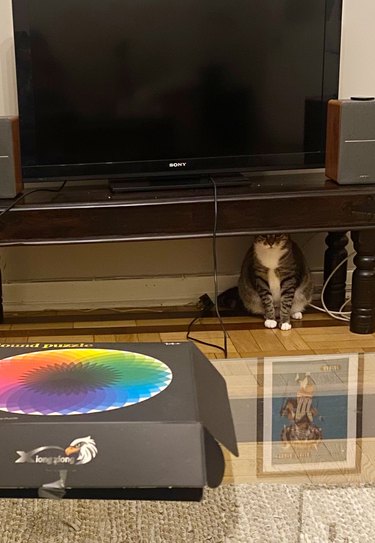
[[[249,184],[249,178],[241,173],[223,175],[147,177],[124,180],[109,180],[108,186],[112,193],[143,192],[152,190],[197,189],[212,188],[212,179],[219,187]]]

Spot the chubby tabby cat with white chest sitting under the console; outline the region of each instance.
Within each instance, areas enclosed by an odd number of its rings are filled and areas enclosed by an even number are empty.
[[[246,310],[264,316],[266,328],[290,330],[311,302],[313,282],[298,245],[288,234],[255,237],[242,264],[238,293]]]

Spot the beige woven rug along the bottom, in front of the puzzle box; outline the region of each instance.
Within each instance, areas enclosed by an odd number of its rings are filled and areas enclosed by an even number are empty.
[[[222,485],[200,503],[0,500],[1,543],[371,543],[375,487]]]

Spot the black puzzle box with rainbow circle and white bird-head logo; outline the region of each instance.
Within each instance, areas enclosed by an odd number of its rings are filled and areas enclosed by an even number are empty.
[[[0,346],[0,495],[200,499],[238,454],[226,384],[187,343]]]

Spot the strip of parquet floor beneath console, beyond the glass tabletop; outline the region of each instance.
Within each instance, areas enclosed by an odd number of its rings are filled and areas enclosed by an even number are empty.
[[[186,341],[191,316],[166,316],[164,311],[131,318],[131,312],[96,315],[10,315],[0,325],[2,343],[22,342],[164,342]],[[228,337],[228,358],[285,354],[329,354],[375,351],[375,334],[353,334],[346,323],[321,313],[309,313],[295,321],[289,331],[269,330],[261,319],[224,317]],[[191,336],[223,346],[223,332],[216,317],[198,319]],[[208,358],[223,358],[218,348],[197,343]]]

